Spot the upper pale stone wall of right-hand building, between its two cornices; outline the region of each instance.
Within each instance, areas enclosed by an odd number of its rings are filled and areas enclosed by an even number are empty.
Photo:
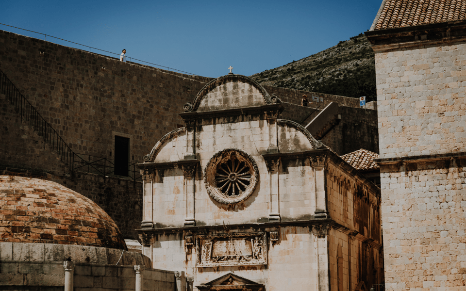
[[[466,44],[375,54],[381,158],[463,151]]]

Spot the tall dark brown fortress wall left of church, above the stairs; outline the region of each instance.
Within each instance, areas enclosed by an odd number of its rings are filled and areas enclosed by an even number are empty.
[[[141,162],[154,141],[183,126],[178,113],[207,81],[10,32],[0,31],[0,44],[0,69],[82,154],[114,159],[120,135],[130,138],[130,162]]]

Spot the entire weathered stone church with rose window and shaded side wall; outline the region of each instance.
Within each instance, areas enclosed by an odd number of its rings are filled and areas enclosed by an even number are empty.
[[[229,74],[144,163],[143,254],[188,290],[381,290],[380,189]]]

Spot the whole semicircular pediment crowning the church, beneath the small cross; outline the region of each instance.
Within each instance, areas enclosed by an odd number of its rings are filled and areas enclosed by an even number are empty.
[[[253,79],[229,74],[210,81],[199,91],[193,103],[188,102],[183,108],[185,112],[206,112],[279,102]]]

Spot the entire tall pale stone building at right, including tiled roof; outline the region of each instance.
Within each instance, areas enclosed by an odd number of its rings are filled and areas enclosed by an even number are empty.
[[[386,290],[465,290],[466,1],[384,0],[366,36]]]

